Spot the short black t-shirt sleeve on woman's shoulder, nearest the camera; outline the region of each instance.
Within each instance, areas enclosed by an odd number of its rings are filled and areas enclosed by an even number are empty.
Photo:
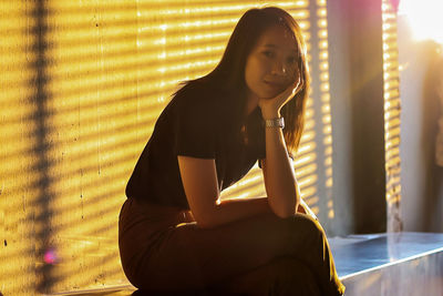
[[[215,159],[217,112],[213,98],[189,98],[181,100],[177,106],[176,154]]]

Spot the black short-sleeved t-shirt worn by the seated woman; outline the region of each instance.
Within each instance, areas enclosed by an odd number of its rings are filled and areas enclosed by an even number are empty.
[[[241,127],[233,121],[233,103],[205,88],[186,85],[155,123],[126,186],[126,196],[189,208],[177,155],[215,159],[220,191],[265,159],[265,130],[256,108]]]

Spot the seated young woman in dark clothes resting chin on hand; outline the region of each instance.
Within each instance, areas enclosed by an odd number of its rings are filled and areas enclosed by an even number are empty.
[[[300,206],[290,155],[309,73],[297,22],[247,11],[219,64],[186,82],[158,118],[126,187],[120,251],[155,292],[341,295],[319,223]],[[219,201],[256,162],[266,197]]]

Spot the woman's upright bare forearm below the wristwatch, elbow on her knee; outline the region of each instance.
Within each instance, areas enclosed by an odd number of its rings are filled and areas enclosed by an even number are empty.
[[[271,210],[280,217],[293,215],[300,197],[296,174],[279,127],[266,127],[264,172]]]

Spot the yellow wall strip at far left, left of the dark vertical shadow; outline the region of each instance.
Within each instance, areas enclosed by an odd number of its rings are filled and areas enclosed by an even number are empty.
[[[41,223],[37,204],[42,194],[38,156],[39,123],[31,88],[38,53],[30,49],[35,24],[32,8],[0,2],[0,292],[24,294],[37,282],[37,233]],[[28,33],[29,32],[29,33]],[[20,177],[19,177],[20,176]]]

